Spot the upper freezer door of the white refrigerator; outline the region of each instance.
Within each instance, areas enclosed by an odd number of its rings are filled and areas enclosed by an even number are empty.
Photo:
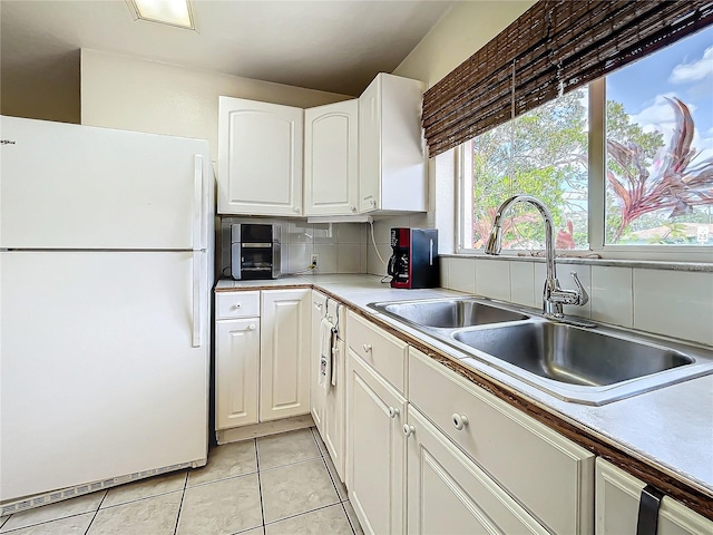
[[[205,247],[207,142],[0,120],[0,249]]]

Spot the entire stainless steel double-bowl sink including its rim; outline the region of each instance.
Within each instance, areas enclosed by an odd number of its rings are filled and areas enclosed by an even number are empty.
[[[554,322],[482,298],[369,307],[567,401],[604,405],[713,372],[709,349]]]

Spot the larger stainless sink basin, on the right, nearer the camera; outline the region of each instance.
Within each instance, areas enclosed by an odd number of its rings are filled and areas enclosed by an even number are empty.
[[[459,331],[453,338],[539,377],[600,387],[691,364],[680,351],[550,322]]]

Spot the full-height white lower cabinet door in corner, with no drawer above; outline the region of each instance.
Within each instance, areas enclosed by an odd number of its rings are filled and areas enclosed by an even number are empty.
[[[310,412],[309,289],[262,292],[260,420]]]

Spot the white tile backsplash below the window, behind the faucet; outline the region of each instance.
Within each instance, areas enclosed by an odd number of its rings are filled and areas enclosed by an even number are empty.
[[[563,288],[576,271],[589,294],[565,313],[713,346],[713,272],[557,263]],[[541,261],[441,256],[442,285],[451,290],[540,308]]]

